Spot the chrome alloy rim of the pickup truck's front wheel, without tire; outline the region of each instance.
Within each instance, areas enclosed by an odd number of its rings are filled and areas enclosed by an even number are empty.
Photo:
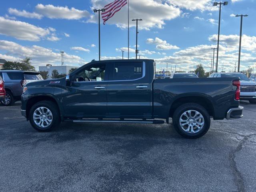
[[[52,123],[52,112],[46,107],[38,107],[33,113],[33,120],[40,128],[46,128]]]

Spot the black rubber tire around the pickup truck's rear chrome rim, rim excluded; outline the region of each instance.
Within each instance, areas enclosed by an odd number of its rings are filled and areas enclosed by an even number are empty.
[[[200,114],[202,114],[202,116],[204,118],[204,125],[202,126],[202,129],[199,130],[197,133],[186,132],[180,126],[180,117],[182,116],[182,114],[184,112],[186,112],[188,110],[195,110],[195,111],[199,112]],[[210,128],[211,119],[210,119],[210,116],[209,116],[207,110],[203,106],[196,104],[196,103],[186,103],[186,104],[181,105],[180,107],[178,107],[175,110],[174,115],[172,117],[172,124],[174,125],[174,128],[178,132],[178,134],[180,134],[181,136],[186,137],[186,138],[194,139],[194,138],[202,137],[204,134],[206,134],[206,132]],[[189,129],[189,130],[191,130],[191,129]]]

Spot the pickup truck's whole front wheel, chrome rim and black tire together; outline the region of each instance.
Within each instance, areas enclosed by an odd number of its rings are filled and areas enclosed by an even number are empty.
[[[49,132],[60,124],[58,106],[51,101],[40,101],[29,111],[29,121],[39,132]]]

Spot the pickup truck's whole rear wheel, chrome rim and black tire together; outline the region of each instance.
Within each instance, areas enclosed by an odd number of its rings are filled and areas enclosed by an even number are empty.
[[[199,138],[209,130],[211,119],[203,106],[186,103],[175,110],[172,123],[181,136]]]

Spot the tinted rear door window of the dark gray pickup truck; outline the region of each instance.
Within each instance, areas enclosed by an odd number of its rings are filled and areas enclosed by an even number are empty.
[[[116,62],[113,70],[113,80],[136,80],[143,76],[142,62]]]

